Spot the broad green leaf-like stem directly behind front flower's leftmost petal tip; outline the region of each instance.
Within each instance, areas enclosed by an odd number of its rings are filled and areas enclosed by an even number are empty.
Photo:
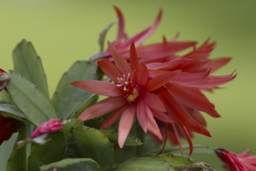
[[[72,85],[71,82],[97,79],[97,65],[89,61],[76,61],[69,71],[62,75],[59,85],[52,97],[52,105],[59,117],[69,118],[72,113],[90,100],[94,94],[85,92]]]

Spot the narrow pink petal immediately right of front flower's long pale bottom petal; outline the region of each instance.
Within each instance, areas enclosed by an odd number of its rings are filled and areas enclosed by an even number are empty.
[[[145,109],[145,103],[143,99],[139,99],[137,102],[137,120],[140,124],[140,127],[143,129],[144,133],[147,133],[148,126],[147,126],[147,115]]]

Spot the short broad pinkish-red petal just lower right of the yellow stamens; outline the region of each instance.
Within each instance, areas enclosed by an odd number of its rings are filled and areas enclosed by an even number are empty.
[[[166,112],[165,104],[155,93],[145,93],[144,101],[151,107],[151,109]]]

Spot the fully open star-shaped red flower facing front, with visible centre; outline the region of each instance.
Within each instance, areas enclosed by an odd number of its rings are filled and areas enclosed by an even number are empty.
[[[155,118],[171,123],[173,120],[165,115],[164,103],[155,93],[155,90],[169,82],[178,72],[158,75],[151,79],[146,66],[137,61],[134,44],[130,47],[130,65],[120,56],[112,44],[109,43],[108,48],[115,65],[110,61],[102,60],[98,61],[98,66],[114,83],[95,80],[72,83],[73,86],[88,92],[108,96],[107,99],[84,110],[80,119],[89,120],[112,112],[105,123],[101,125],[101,128],[108,127],[120,119],[118,138],[120,148],[123,148],[135,117],[137,117],[144,132],[150,131],[162,140],[162,134]]]

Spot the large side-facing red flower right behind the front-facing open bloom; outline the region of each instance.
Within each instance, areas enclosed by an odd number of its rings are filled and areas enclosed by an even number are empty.
[[[207,56],[208,54],[201,53],[201,57],[206,58]],[[204,68],[197,70],[203,63]],[[165,125],[164,122],[158,121],[158,125],[159,127],[165,127],[161,129],[162,134],[165,134],[165,137],[169,137],[175,144],[178,143],[181,146],[180,137],[187,138],[190,144],[190,154],[193,151],[192,141],[190,140],[193,132],[211,136],[204,128],[206,121],[201,112],[208,113],[212,117],[219,117],[214,104],[204,96],[201,90],[212,91],[212,89],[236,77],[233,74],[222,76],[210,75],[211,69],[207,67],[212,64],[212,66],[218,68],[224,63],[219,64],[219,62],[216,62],[213,64],[212,61],[207,60],[206,62],[201,58],[174,58],[170,61],[154,62],[146,65],[151,78],[173,71],[181,71],[166,83],[164,87],[158,89],[158,94],[165,103],[169,116],[176,120],[176,124]]]

